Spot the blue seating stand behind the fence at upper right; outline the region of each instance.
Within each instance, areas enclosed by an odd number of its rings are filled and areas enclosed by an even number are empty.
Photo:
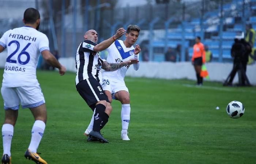
[[[231,61],[230,49],[233,44],[233,40],[237,34],[241,34],[242,24],[242,0],[233,0],[223,5],[223,32],[222,32],[222,57]],[[247,16],[247,23],[252,23],[253,28],[256,29],[256,0],[249,1],[251,12],[245,10],[244,14]],[[208,11],[204,14],[204,38],[203,44],[208,45],[211,50],[215,61],[219,58],[219,9]],[[192,18],[191,21],[187,21],[185,24],[185,49],[188,49],[189,56],[193,53],[193,43],[196,36],[200,36],[200,17]],[[167,34],[168,46],[176,47],[182,42],[182,24],[178,24],[176,28],[169,29]],[[165,46],[164,41],[155,41],[154,46]],[[256,44],[255,44],[256,46]],[[164,57],[154,57],[154,61],[163,61]],[[163,53],[162,53],[162,56]]]

